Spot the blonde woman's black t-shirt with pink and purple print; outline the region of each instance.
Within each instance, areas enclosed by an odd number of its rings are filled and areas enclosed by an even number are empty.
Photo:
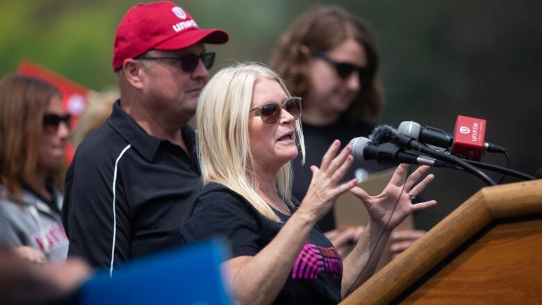
[[[295,206],[299,201],[294,199]],[[190,206],[181,229],[184,242],[225,238],[231,256],[255,256],[277,236],[290,216],[275,211],[283,221],[263,217],[249,202],[226,186],[210,183]],[[274,304],[337,304],[343,262],[317,226],[313,228],[292,272]]]

